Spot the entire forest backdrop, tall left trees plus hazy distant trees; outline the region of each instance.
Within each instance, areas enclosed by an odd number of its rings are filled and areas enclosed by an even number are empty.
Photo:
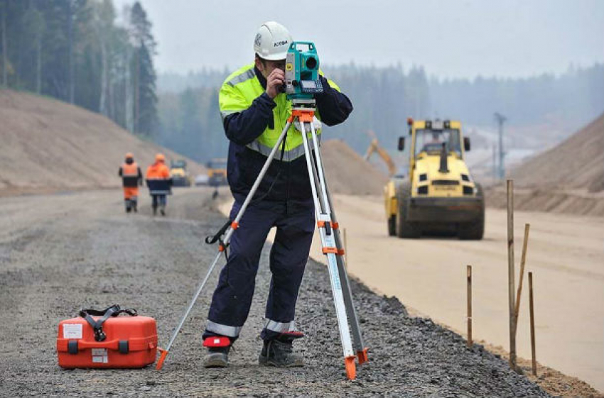
[[[138,1],[118,12],[112,0],[0,0],[0,84],[99,112],[200,162],[225,157],[217,92],[230,71],[157,77],[151,28]],[[407,116],[494,126],[498,111],[510,125],[554,120],[577,127],[604,110],[603,64],[522,79],[438,79],[422,67],[354,63],[324,72],[355,107],[325,136],[359,153],[369,130],[393,149]]]

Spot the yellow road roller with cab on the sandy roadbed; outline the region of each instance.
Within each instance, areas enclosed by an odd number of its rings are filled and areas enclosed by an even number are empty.
[[[485,231],[485,199],[465,165],[470,139],[459,121],[409,118],[409,175],[384,187],[388,233],[419,238],[428,231],[453,231],[480,240]],[[463,145],[462,145],[463,143]],[[399,138],[404,150],[405,137]]]

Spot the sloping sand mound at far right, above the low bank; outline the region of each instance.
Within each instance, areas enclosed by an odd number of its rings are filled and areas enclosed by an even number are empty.
[[[512,171],[519,187],[539,189],[604,188],[604,114],[563,143]]]

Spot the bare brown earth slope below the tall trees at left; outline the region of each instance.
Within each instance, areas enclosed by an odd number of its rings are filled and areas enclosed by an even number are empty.
[[[119,165],[134,153],[143,170],[157,152],[108,118],[62,101],[0,90],[0,194],[118,187]],[[203,168],[188,160],[190,171]]]

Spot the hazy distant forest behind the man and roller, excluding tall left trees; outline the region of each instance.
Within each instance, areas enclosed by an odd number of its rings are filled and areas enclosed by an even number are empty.
[[[530,126],[562,120],[568,133],[604,111],[604,65],[569,68],[559,75],[504,79],[436,79],[422,67],[326,66],[325,74],[347,94],[355,110],[343,125],[328,128],[326,138],[346,141],[363,153],[372,130],[384,148],[394,150],[407,131],[406,118],[454,118],[465,126],[495,128],[493,113],[511,125]],[[161,127],[158,142],[193,159],[225,157],[217,94],[227,70],[160,74]]]

